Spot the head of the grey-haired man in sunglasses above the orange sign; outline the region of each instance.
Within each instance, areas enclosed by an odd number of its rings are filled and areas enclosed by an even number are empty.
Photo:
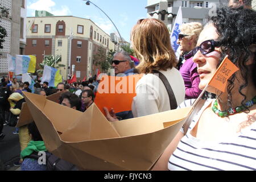
[[[131,57],[126,51],[114,54],[112,67],[115,69],[116,76],[134,75],[134,63],[131,61]]]

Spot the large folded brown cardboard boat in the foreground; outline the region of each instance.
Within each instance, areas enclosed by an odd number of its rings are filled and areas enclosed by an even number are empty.
[[[150,169],[192,109],[109,122],[95,104],[81,113],[43,96],[24,97],[48,151],[89,170]]]

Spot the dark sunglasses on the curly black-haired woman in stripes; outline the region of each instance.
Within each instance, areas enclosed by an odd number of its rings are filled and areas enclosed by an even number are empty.
[[[215,47],[220,47],[220,43],[214,40],[205,40],[200,44],[200,46],[196,47],[192,50],[193,56],[200,50],[202,55],[207,55],[210,52],[213,52]]]

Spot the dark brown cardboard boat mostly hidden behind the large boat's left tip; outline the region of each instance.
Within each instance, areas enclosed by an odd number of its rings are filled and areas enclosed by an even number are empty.
[[[61,95],[61,93],[55,93],[55,94],[52,94],[51,96],[47,96],[46,99],[49,101],[59,103],[60,95]],[[17,125],[15,127],[21,127],[24,125],[28,125],[29,123],[32,123],[33,121],[34,121],[34,119],[30,113],[30,110],[28,109],[27,103],[23,102],[22,109],[19,114],[19,119],[18,119]]]

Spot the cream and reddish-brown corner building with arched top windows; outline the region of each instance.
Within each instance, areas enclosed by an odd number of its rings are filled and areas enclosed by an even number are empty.
[[[105,61],[95,60],[102,57],[98,54],[104,52],[106,56],[106,51],[114,47],[110,36],[90,19],[52,16],[46,12],[38,15],[27,18],[25,49],[26,55],[36,56],[36,68],[39,69],[39,63],[42,63],[44,56],[60,55],[59,64],[65,65],[60,68],[64,80],[72,72],[81,80],[96,74],[96,69],[100,66],[93,63]]]

